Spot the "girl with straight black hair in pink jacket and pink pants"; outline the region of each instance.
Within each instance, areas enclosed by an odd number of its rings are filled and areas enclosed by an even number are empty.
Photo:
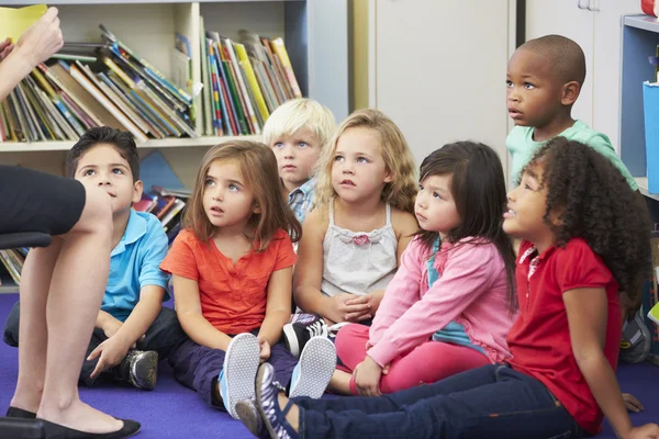
[[[445,145],[421,165],[421,230],[401,256],[372,326],[336,337],[330,389],[393,393],[494,362],[516,312],[515,256],[501,228],[504,173],[490,147]]]

